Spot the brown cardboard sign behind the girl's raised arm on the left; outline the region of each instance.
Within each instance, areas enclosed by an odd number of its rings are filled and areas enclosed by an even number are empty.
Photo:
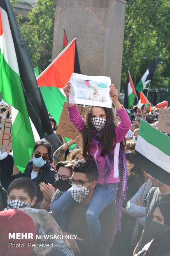
[[[75,126],[68,117],[68,109],[66,107],[66,103],[67,102],[64,102],[63,111],[60,116],[60,121],[56,130],[56,134],[75,140],[78,135],[78,130],[75,128]],[[83,117],[86,114],[86,108],[79,105],[77,105],[77,108],[79,114]]]

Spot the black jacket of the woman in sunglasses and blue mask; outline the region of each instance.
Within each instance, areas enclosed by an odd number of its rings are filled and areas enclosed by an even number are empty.
[[[33,162],[30,162],[28,166],[26,167],[26,170],[24,173],[18,173],[12,175],[12,180],[15,180],[16,178],[30,178],[31,179],[31,172],[33,171]],[[56,187],[56,180],[55,180],[55,174],[56,171],[54,170],[53,166],[47,162],[47,164],[44,164],[42,168],[40,168],[40,171],[35,179],[33,179],[36,187],[37,187],[37,201],[36,203],[38,204],[40,201],[43,199],[43,194],[40,190],[40,183],[44,182],[46,184],[50,183],[53,185],[53,187]]]

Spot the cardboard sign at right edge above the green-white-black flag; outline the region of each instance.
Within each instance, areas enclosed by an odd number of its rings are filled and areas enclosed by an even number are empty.
[[[170,109],[159,109],[158,130],[170,133]]]

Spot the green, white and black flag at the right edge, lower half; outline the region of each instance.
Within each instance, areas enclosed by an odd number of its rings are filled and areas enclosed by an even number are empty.
[[[170,137],[141,119],[135,150],[137,165],[170,186]]]

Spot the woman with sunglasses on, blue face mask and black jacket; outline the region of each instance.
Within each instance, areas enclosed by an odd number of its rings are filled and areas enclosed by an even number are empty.
[[[43,193],[40,190],[40,183],[44,182],[48,185],[50,183],[56,187],[55,175],[56,171],[50,164],[51,145],[47,140],[39,140],[35,142],[35,147],[33,151],[33,159],[30,161],[26,167],[24,173],[19,170],[13,171],[12,180],[20,177],[30,178],[34,181],[37,187],[37,201],[39,203],[43,200]],[[43,201],[43,206],[47,207],[49,205],[50,198],[47,201]]]

